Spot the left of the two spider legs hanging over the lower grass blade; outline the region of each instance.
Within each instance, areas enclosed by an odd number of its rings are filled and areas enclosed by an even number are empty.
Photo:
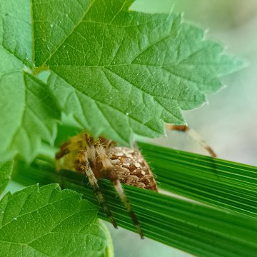
[[[112,216],[111,211],[109,210],[109,207],[106,204],[106,200],[104,199],[104,196],[101,193],[99,184],[97,183],[96,176],[94,176],[94,172],[91,169],[91,166],[89,164],[89,160],[86,156],[85,150],[79,151],[78,158],[76,159],[75,168],[77,171],[79,171],[81,173],[86,173],[86,176],[89,178],[89,183],[91,184],[91,187],[93,188],[93,191],[99,200],[99,204],[103,207],[104,212],[106,213],[106,216],[109,218],[111,223],[114,225],[114,228],[118,228],[116,220],[115,220],[114,216]]]

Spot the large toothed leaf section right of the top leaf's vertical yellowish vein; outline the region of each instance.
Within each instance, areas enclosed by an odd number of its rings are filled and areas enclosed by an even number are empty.
[[[131,0],[32,1],[34,61],[68,114],[94,136],[129,143],[206,102],[241,66],[173,14],[128,11]]]

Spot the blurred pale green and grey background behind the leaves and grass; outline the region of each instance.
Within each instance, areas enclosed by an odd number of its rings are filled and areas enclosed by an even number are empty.
[[[231,161],[257,164],[257,1],[256,0],[137,0],[131,9],[145,12],[170,12],[184,14],[184,19],[208,29],[207,37],[222,41],[228,53],[246,59],[248,66],[223,79],[226,87],[208,96],[209,104],[201,109],[184,112],[191,128],[200,133],[214,148],[218,157]],[[168,138],[151,140],[171,148],[206,153],[191,138],[176,131]],[[21,188],[10,183],[12,192]],[[146,238],[140,240],[136,233],[123,228],[114,229],[109,223],[114,239],[116,257],[166,257],[190,256],[169,246]]]

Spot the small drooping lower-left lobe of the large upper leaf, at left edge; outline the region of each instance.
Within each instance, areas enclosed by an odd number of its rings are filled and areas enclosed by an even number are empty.
[[[31,161],[38,153],[41,140],[54,142],[59,109],[46,84],[23,71],[19,61],[4,49],[9,69],[0,74],[0,156],[8,160],[23,156]],[[7,67],[6,67],[7,68]]]

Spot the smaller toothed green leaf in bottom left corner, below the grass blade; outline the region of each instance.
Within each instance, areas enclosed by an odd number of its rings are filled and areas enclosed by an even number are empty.
[[[108,256],[97,208],[56,184],[29,186],[0,202],[0,256]]]

